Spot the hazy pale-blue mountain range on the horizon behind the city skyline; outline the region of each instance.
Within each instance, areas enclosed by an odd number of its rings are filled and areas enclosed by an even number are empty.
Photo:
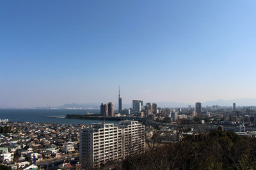
[[[241,99],[230,99],[230,100],[215,100],[215,101],[205,101],[202,103],[202,106],[212,106],[212,105],[218,105],[218,106],[230,106],[232,107],[232,104],[236,103],[236,106],[256,106],[256,99],[251,98],[241,98]],[[58,108],[100,108],[101,103],[86,103],[86,104],[64,104],[63,106],[60,106]],[[145,103],[143,103],[145,104]],[[192,107],[195,106],[195,104],[189,104],[189,103],[179,103],[179,102],[157,102],[157,106],[161,108],[185,108],[191,105]],[[114,103],[115,108],[117,108],[118,103]],[[132,103],[123,103],[123,108],[131,108]]]

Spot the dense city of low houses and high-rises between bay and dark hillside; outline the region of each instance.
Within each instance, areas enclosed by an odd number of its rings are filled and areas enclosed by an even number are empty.
[[[157,103],[143,105],[143,101],[133,100],[132,108],[122,108],[120,89],[117,108],[112,102],[102,103],[99,114],[66,118],[98,118],[102,122],[75,125],[1,120],[2,164],[11,169],[115,169],[129,155],[145,153],[155,143],[175,143],[212,131],[256,137],[255,107],[233,103],[203,108],[195,103],[187,108],[159,108]],[[108,119],[116,122],[104,123]]]

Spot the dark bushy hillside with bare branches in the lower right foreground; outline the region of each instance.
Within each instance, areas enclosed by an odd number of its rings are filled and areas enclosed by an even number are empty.
[[[256,139],[234,132],[212,131],[175,143],[148,143],[147,152],[125,157],[121,166],[122,169],[256,169]]]

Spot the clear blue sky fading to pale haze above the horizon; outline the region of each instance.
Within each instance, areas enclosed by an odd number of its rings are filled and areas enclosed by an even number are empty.
[[[0,1],[0,107],[256,97],[256,1]]]

